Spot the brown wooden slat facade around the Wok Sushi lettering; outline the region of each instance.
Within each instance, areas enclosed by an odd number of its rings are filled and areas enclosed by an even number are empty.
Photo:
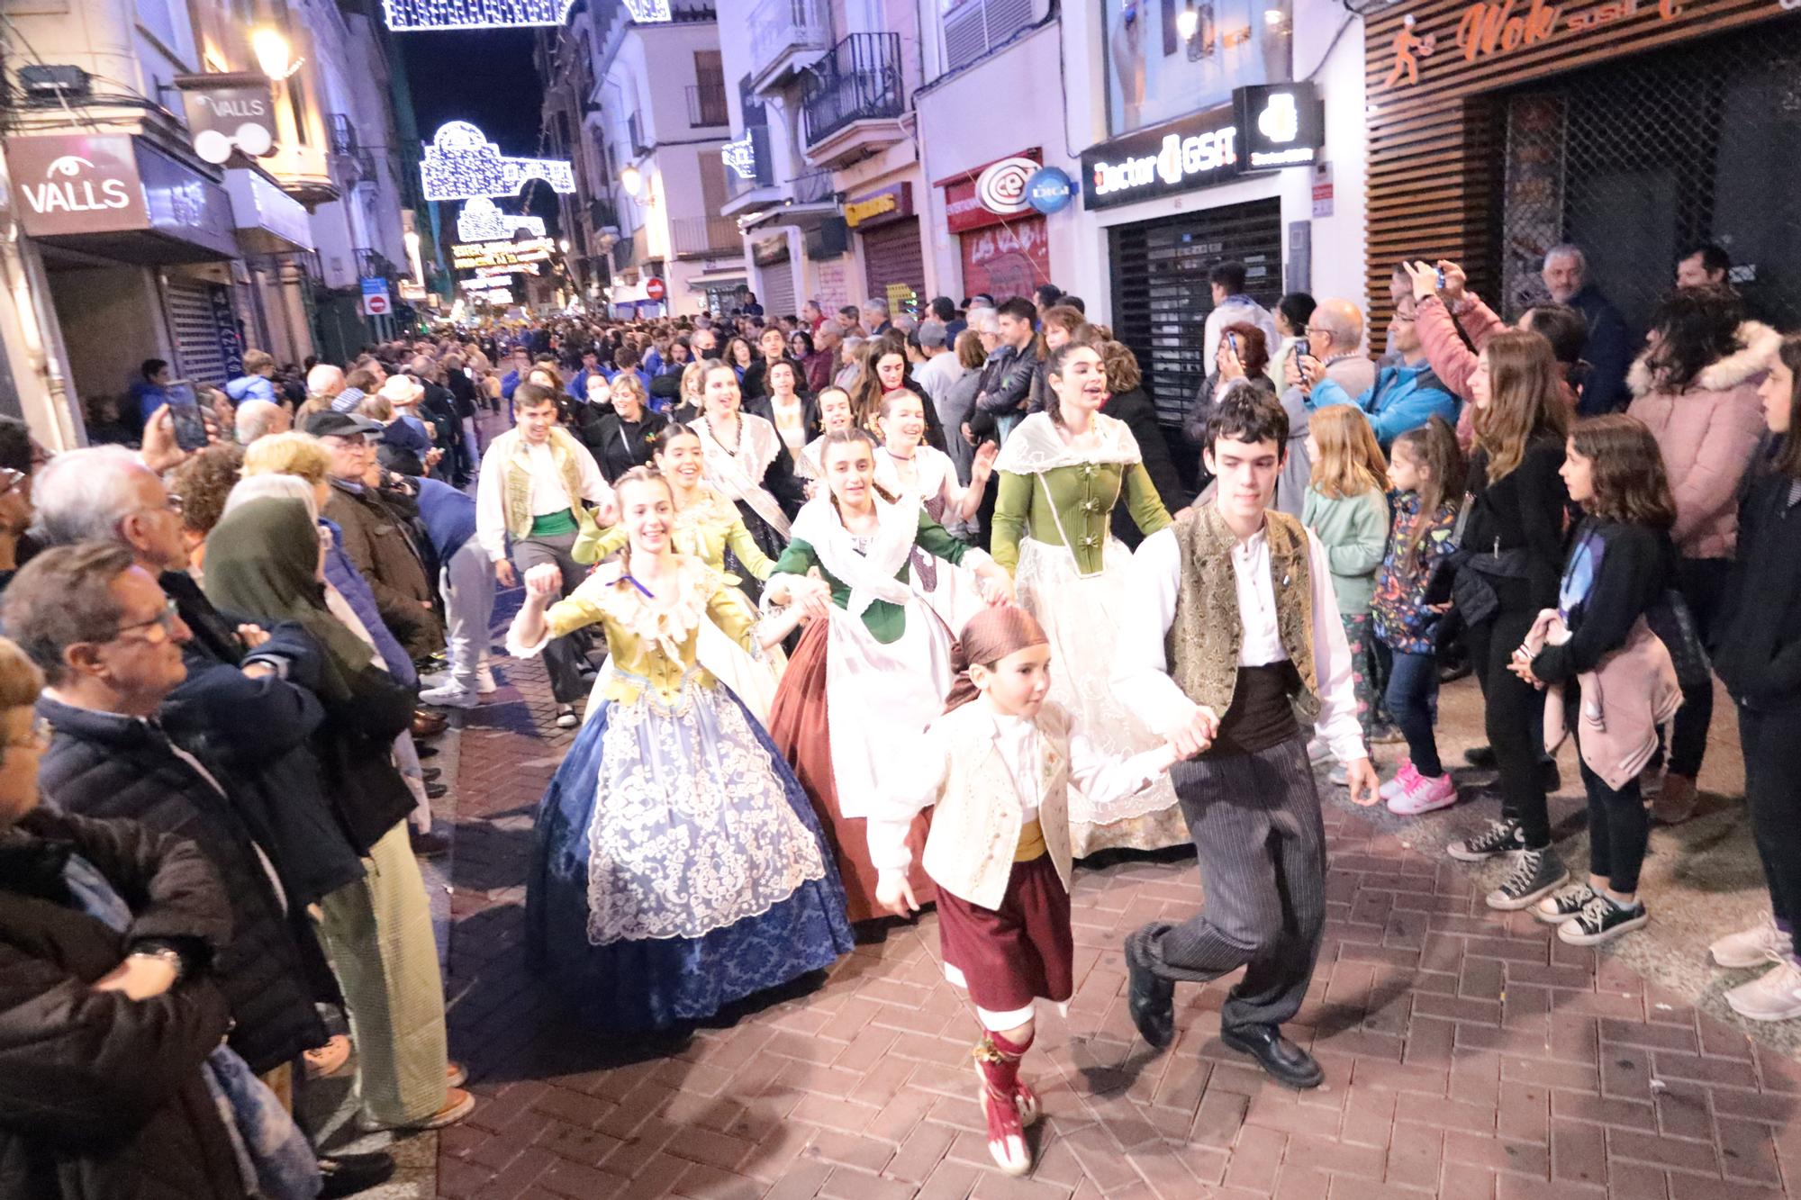
[[[1466,61],[1457,49],[1457,25],[1470,0],[1403,4],[1363,22],[1369,135],[1365,218],[1371,328],[1387,324],[1389,276],[1401,258],[1450,258],[1470,270],[1471,286],[1497,295],[1498,223],[1506,139],[1504,103],[1497,95],[1522,83],[1639,54],[1704,34],[1763,20],[1801,20],[1776,0],[1680,0],[1680,11],[1662,20],[1657,0],[1637,0],[1637,11],[1574,32],[1570,14],[1599,4],[1563,4],[1556,32],[1540,43],[1498,50]],[[1513,16],[1525,16],[1531,0],[1515,0]],[[1435,50],[1419,59],[1419,85],[1387,86],[1394,67],[1394,36],[1407,14],[1416,36],[1437,36]],[[1374,348],[1372,339],[1372,348]]]

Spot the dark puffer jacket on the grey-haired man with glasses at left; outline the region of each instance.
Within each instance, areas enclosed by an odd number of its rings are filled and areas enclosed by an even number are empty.
[[[295,942],[250,831],[205,777],[148,721],[72,708],[43,695],[50,748],[38,768],[45,796],[77,816],[128,818],[200,845],[225,885],[232,935],[214,977],[238,1027],[231,1047],[263,1074],[326,1043],[306,955]],[[130,901],[130,897],[126,897]]]

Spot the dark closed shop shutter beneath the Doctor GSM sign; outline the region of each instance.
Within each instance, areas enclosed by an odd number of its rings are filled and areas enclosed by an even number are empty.
[[[1255,200],[1108,231],[1113,335],[1138,355],[1165,425],[1180,425],[1207,377],[1203,341],[1214,263],[1244,263],[1244,290],[1266,308],[1282,297],[1282,202]]]

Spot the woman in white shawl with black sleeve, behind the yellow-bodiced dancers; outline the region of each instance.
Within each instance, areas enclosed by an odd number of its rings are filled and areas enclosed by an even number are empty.
[[[738,377],[724,362],[706,366],[702,411],[688,427],[701,438],[706,481],[738,506],[744,528],[771,559],[787,546],[794,512],[805,501],[794,459],[765,418],[740,411]]]

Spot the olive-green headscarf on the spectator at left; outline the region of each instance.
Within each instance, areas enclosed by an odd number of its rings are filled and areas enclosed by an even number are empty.
[[[369,647],[326,607],[319,526],[297,499],[258,499],[225,514],[207,535],[207,598],[268,623],[295,622],[324,650],[321,697],[348,701]]]

